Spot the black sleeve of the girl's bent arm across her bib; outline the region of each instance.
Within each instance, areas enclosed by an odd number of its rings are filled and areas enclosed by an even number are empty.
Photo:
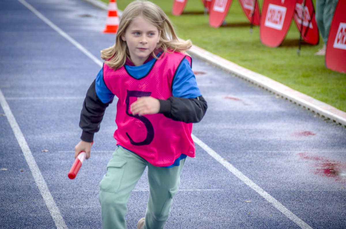
[[[159,113],[175,121],[186,123],[201,121],[208,108],[207,101],[202,96],[192,99],[172,96],[167,100],[159,101]]]

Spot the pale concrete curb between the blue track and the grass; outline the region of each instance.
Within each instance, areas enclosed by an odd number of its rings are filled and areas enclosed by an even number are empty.
[[[89,2],[95,7],[103,10],[108,10],[106,3],[98,0],[83,0]],[[121,11],[119,10],[119,15]],[[314,99],[299,91],[295,91],[288,86],[285,86],[279,82],[276,82],[264,75],[258,74],[251,70],[248,70],[242,66],[239,66],[233,62],[230,62],[220,56],[212,54],[198,46],[193,45],[188,51],[190,55],[196,56],[203,61],[206,61],[222,70],[234,74],[248,82],[251,82],[277,96],[289,100],[303,108],[306,108],[321,117],[332,120],[333,122],[346,127],[346,112],[338,110],[337,108],[330,106],[327,103]]]

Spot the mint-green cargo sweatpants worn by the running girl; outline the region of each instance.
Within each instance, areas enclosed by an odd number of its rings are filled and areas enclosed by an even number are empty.
[[[156,167],[137,154],[118,147],[100,182],[102,228],[126,229],[127,202],[147,166],[149,200],[144,229],[163,228],[171,211],[173,197],[179,189],[184,163],[185,159],[182,159],[179,166]]]

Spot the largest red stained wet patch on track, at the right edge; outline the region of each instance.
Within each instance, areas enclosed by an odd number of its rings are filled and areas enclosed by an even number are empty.
[[[346,181],[344,170],[346,168],[342,162],[329,160],[325,156],[316,156],[308,153],[299,153],[301,159],[312,161],[315,167],[313,173],[325,177],[333,177],[336,181]],[[344,169],[344,170],[343,170]]]

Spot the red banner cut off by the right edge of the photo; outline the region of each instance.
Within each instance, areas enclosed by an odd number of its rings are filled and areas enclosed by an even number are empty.
[[[326,67],[346,73],[346,1],[339,1],[331,21],[327,49]]]

